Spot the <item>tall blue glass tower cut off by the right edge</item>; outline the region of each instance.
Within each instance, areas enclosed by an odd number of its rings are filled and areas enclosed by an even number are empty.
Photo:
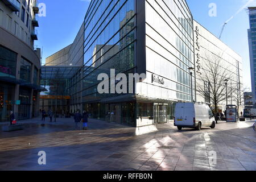
[[[248,40],[250,50],[251,90],[256,100],[256,7],[248,7],[248,9],[250,22],[250,29],[248,30]]]

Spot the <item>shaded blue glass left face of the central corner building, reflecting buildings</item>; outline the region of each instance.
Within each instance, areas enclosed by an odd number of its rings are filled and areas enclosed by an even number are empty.
[[[83,102],[106,97],[97,93],[99,73],[110,76],[112,68],[115,73],[133,73],[135,67],[134,0],[92,1],[91,6],[97,8],[89,8],[85,18],[84,67],[76,75],[79,81],[82,76]]]

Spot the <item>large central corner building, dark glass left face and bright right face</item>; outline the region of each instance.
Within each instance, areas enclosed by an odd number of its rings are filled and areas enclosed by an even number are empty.
[[[189,67],[194,67],[193,18],[185,1],[91,1],[84,66],[71,81],[71,110],[137,127],[167,122],[177,101],[191,101]],[[110,76],[110,69],[116,75],[145,73],[146,79],[134,81],[130,94],[100,94],[97,76]]]

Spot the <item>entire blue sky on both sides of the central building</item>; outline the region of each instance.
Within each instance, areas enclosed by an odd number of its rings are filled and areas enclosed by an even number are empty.
[[[256,0],[187,0],[193,18],[214,35],[220,34],[222,24],[234,16],[225,27],[221,40],[243,59],[243,82],[250,87],[250,61],[247,40],[249,18],[245,10],[236,14],[247,2],[256,6]],[[39,0],[46,4],[46,17],[39,17],[39,40],[43,47],[43,62],[46,57],[73,42],[84,19],[90,0]],[[210,17],[209,4],[217,5],[217,16]]]

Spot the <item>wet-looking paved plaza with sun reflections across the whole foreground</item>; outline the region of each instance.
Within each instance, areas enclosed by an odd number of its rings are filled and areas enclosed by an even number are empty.
[[[178,131],[173,123],[135,129],[90,119],[75,130],[72,118],[21,131],[0,131],[0,170],[256,170],[254,122]],[[3,126],[3,123],[0,124]],[[46,152],[46,165],[38,152]]]

